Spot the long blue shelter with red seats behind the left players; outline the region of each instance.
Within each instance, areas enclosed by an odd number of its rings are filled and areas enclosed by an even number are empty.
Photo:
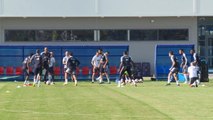
[[[23,80],[23,75],[17,73],[17,68],[22,66],[22,62],[26,56],[31,53],[35,53],[36,49],[43,51],[44,47],[48,47],[49,51],[54,52],[56,59],[56,67],[60,68],[59,75],[56,79],[63,80],[63,65],[62,59],[65,51],[72,51],[74,56],[81,62],[79,66],[79,79],[90,79],[91,78],[91,59],[95,55],[97,49],[102,48],[103,51],[109,51],[110,66],[119,66],[120,57],[123,51],[128,51],[128,45],[121,46],[0,46],[0,79],[1,80]],[[9,70],[9,68],[13,68]],[[82,68],[88,67],[89,73],[82,74]],[[12,71],[12,73],[11,73]],[[116,74],[111,75],[111,78],[115,78]]]

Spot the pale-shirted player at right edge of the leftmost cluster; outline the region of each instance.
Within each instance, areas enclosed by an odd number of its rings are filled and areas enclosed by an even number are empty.
[[[48,75],[48,81],[47,84],[53,85],[54,81],[54,67],[55,67],[55,58],[53,52],[50,52],[50,63],[49,63],[49,75]]]

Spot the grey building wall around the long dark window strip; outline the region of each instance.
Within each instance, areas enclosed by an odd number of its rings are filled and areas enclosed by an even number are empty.
[[[154,20],[155,22],[150,22]],[[2,24],[1,24],[2,23]],[[1,44],[29,45],[129,45],[130,55],[136,62],[150,62],[154,71],[155,46],[157,44],[197,45],[196,17],[152,17],[152,18],[1,18],[0,36],[5,29],[166,29],[188,28],[189,41],[124,41],[124,42],[1,42]]]

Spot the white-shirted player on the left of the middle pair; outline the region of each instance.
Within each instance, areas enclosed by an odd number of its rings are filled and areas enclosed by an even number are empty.
[[[93,56],[91,64],[92,64],[92,83],[94,83],[95,73],[100,73],[100,61],[101,61],[101,52],[96,52],[96,54]],[[101,81],[99,82],[101,83]]]

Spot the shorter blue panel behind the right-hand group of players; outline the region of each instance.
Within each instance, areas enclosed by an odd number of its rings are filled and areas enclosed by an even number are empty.
[[[191,60],[189,51],[194,49],[194,45],[156,45],[155,48],[155,75],[157,80],[167,80],[171,60],[168,56],[169,51],[173,51],[178,61],[181,63],[181,56],[178,53],[179,49],[183,49],[188,61]],[[180,70],[182,71],[182,70]]]

